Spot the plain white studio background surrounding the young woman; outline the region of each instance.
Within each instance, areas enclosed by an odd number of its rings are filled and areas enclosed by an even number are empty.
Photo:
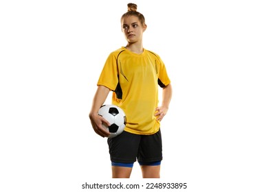
[[[88,114],[107,56],[126,45],[120,17],[130,2],[1,1],[1,191],[113,182],[107,140]],[[265,1],[132,3],[148,25],[144,47],[164,60],[174,89],[162,180],[267,191]],[[131,178],[141,178],[137,163]]]

